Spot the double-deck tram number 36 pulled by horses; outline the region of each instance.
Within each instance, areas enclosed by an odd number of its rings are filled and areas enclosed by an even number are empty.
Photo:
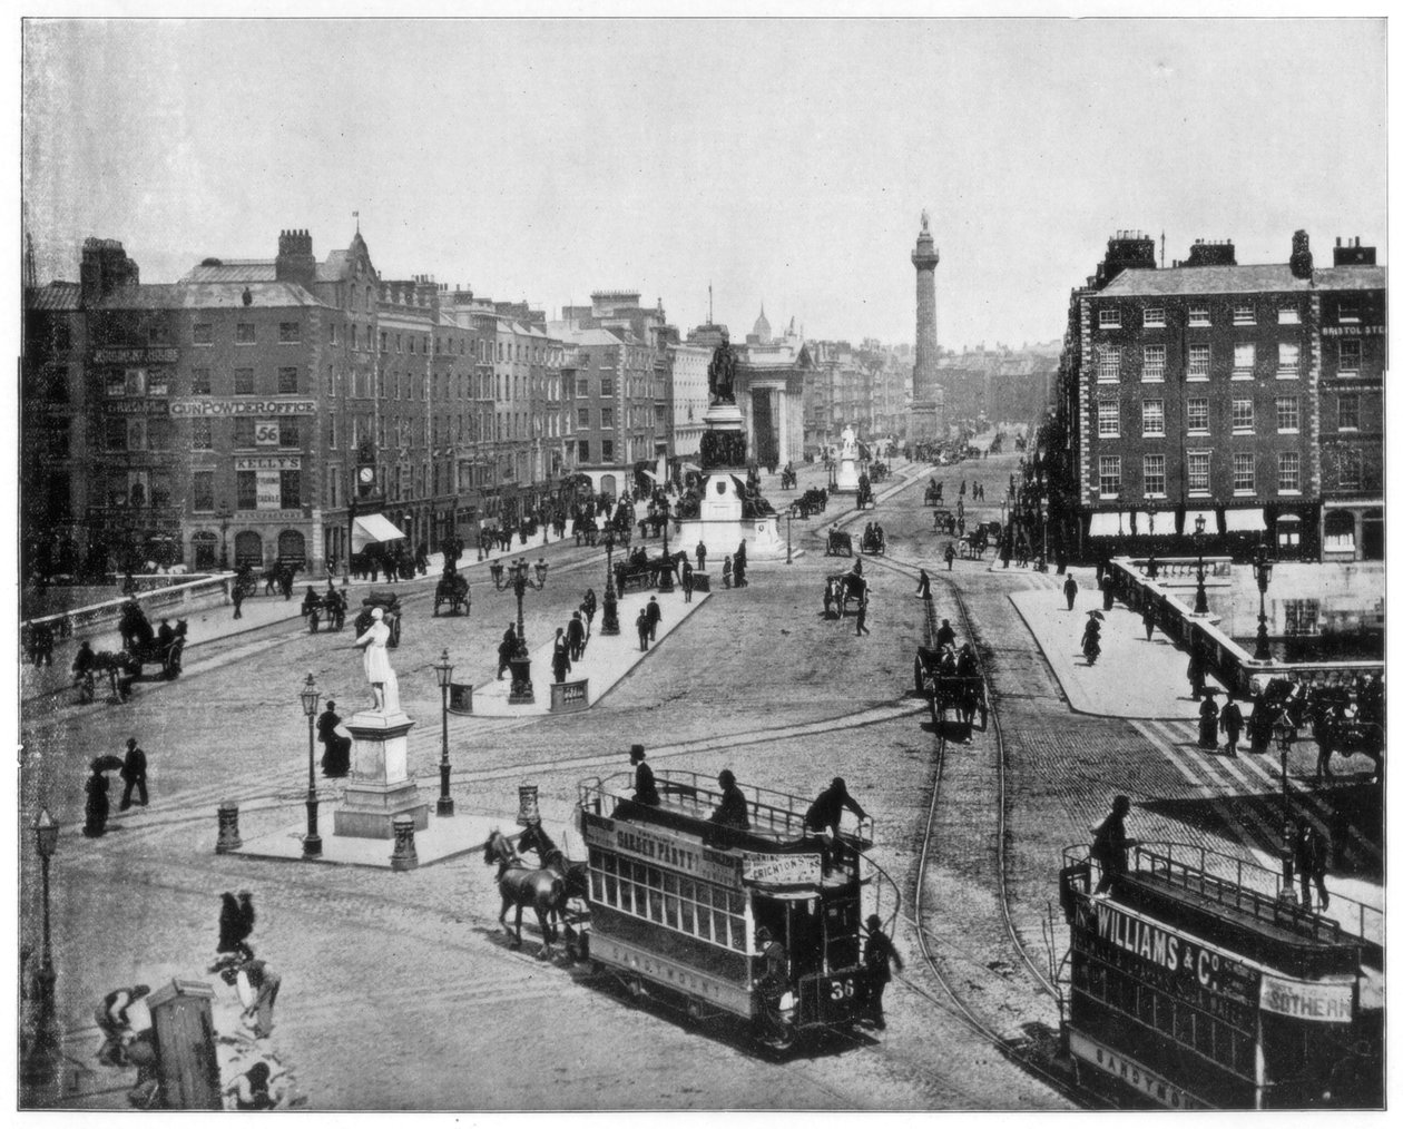
[[[843,829],[825,872],[798,797],[745,788],[749,827],[739,829],[711,819],[723,794],[696,774],[658,771],[657,785],[657,805],[633,799],[626,773],[579,785],[591,958],[636,997],[694,1020],[749,1020],[773,1048],[852,1028],[874,980],[860,941],[871,820]],[[776,979],[788,990],[766,999]]]

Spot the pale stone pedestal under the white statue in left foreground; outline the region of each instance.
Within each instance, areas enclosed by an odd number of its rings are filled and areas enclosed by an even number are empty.
[[[429,806],[408,774],[408,732],[403,711],[362,710],[351,732],[351,778],[334,816],[334,833],[356,839],[394,839],[394,818],[410,816],[415,830],[429,825]]]

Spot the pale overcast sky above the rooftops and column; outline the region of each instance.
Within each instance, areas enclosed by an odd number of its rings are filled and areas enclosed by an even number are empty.
[[[596,289],[683,331],[915,339],[920,209],[940,344],[1061,338],[1121,229],[1282,262],[1386,240],[1383,21],[31,22],[39,279],[86,236],[147,282],[318,258],[352,212],[384,278],[554,317]]]

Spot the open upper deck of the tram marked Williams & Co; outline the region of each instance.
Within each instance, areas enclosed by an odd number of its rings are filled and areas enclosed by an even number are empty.
[[[1082,847],[1066,849],[1063,861],[1097,865]],[[1207,847],[1132,847],[1111,898],[1296,976],[1383,968],[1383,910],[1338,893],[1330,912],[1301,906],[1281,875]]]

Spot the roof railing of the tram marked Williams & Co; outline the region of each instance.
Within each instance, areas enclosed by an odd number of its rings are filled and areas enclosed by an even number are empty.
[[[1385,913],[1347,895],[1331,892],[1329,917],[1296,905],[1282,895],[1287,884],[1268,867],[1237,858],[1194,843],[1142,841],[1131,849],[1135,872],[1150,874],[1166,885],[1193,891],[1225,907],[1273,924],[1289,923],[1292,930],[1324,944],[1364,941],[1382,947]],[[1063,864],[1090,864],[1100,874],[1100,863],[1082,846],[1062,850]]]

